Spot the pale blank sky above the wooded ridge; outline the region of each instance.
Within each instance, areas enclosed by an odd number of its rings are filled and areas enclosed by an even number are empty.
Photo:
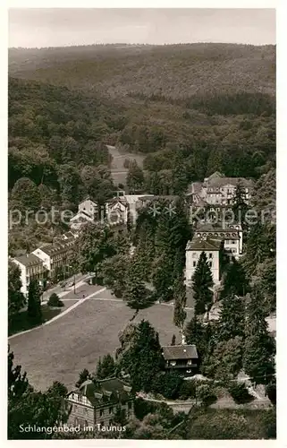
[[[10,9],[9,47],[275,43],[274,9]]]

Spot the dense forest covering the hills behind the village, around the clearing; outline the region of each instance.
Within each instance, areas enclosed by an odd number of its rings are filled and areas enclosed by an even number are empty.
[[[106,144],[146,157],[126,165],[131,192],[275,166],[274,46],[12,48],[9,72],[10,210],[105,202],[117,187]],[[59,230],[29,228],[12,229],[12,251]]]

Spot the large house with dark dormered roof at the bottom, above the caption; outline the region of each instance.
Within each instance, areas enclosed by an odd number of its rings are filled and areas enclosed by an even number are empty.
[[[67,395],[66,400],[71,405],[68,424],[110,426],[118,408],[124,411],[126,418],[131,418],[134,397],[130,384],[119,378],[87,380]]]

